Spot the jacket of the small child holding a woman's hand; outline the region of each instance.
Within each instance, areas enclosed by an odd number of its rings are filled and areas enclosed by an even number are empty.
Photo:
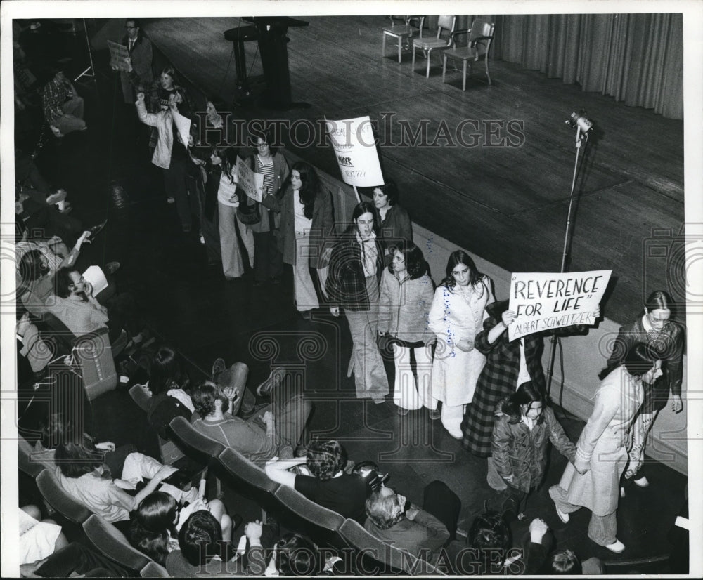
[[[510,485],[522,492],[529,492],[542,482],[547,466],[548,446],[551,441],[557,451],[572,463],[576,446],[569,440],[564,429],[550,407],[545,407],[544,421],[535,421],[532,430],[522,421],[510,423],[510,416],[503,412],[503,404],[498,405],[496,423],[491,444],[492,459],[501,477],[510,477]],[[489,482],[490,483],[490,482]]]

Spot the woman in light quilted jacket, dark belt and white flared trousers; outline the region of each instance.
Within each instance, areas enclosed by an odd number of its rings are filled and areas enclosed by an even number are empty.
[[[423,251],[399,240],[389,248],[391,265],[383,270],[378,332],[388,334],[393,350],[393,400],[401,415],[432,404],[432,347],[434,333],[427,318],[434,284],[427,275]]]

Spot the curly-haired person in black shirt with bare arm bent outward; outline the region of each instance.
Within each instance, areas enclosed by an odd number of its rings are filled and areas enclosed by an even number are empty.
[[[290,468],[302,465],[307,466],[311,476],[290,471]],[[347,452],[340,442],[313,441],[308,444],[305,457],[267,461],[266,475],[275,482],[294,488],[324,508],[363,525],[370,488],[360,475],[344,473],[345,466]]]

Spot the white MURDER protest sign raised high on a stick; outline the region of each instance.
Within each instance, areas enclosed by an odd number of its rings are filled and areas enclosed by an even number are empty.
[[[368,117],[325,121],[342,181],[354,187],[383,185],[373,126]]]

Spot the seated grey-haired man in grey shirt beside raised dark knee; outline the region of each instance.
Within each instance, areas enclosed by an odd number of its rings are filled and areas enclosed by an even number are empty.
[[[425,487],[423,509],[389,487],[378,487],[366,500],[364,528],[381,541],[433,563],[439,548],[456,535],[461,501],[441,481]]]

